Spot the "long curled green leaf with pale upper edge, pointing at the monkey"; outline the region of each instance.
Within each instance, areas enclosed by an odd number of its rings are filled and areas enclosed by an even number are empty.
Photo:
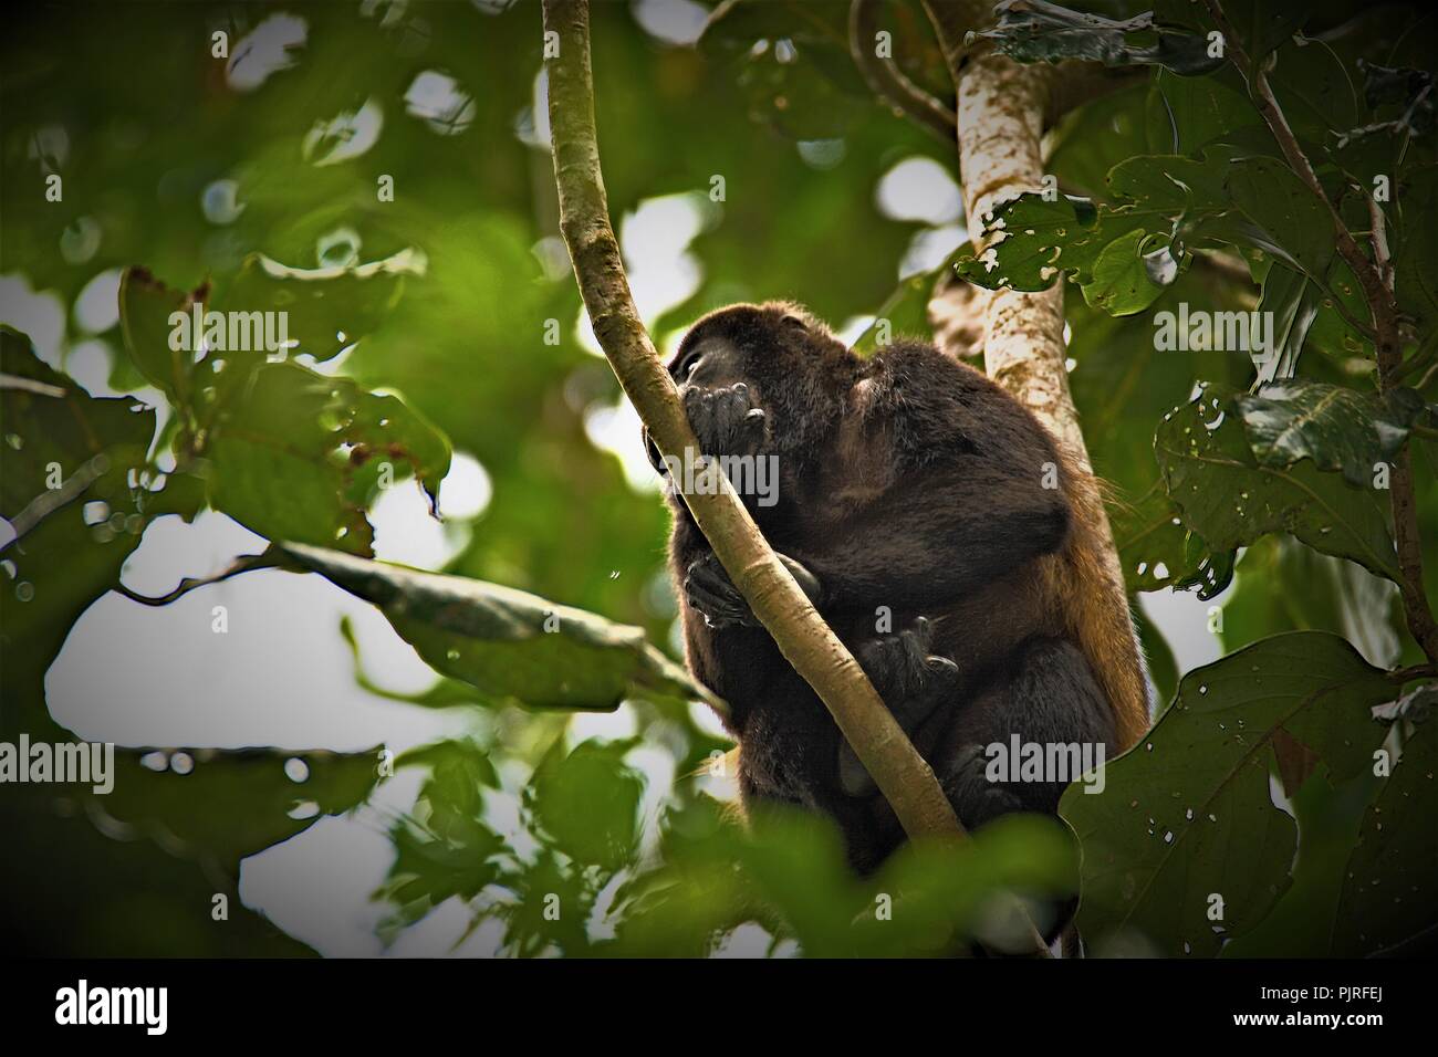
[[[302,568],[380,607],[436,670],[531,708],[608,712],[626,697],[715,700],[637,627],[464,577],[283,544]]]

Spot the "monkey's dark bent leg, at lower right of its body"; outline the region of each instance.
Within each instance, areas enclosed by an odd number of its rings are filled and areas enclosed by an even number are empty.
[[[1037,778],[1025,781],[1022,759],[1009,758],[1014,735],[1043,754]],[[1114,741],[1113,713],[1078,647],[1063,639],[1031,639],[1015,651],[1008,677],[963,706],[945,741],[945,758],[935,769],[959,821],[974,830],[1008,811],[1057,811],[1064,788],[1078,775],[1047,774],[1050,758],[1074,758],[1071,751],[1050,754],[1048,748],[1089,746],[1097,754],[1102,745],[1107,754]],[[1002,755],[989,746],[1001,746]],[[999,762],[1008,764],[1005,774],[998,774]]]

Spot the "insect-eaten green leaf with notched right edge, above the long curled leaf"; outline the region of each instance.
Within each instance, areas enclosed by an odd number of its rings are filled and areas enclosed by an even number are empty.
[[[206,450],[216,509],[269,539],[361,554],[381,467],[413,470],[433,509],[450,462],[449,441],[398,397],[289,362],[255,371]]]

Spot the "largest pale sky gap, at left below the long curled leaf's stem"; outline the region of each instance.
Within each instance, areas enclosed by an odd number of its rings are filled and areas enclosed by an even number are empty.
[[[226,607],[226,634],[211,630],[216,605]],[[355,686],[349,647],[335,634],[341,616],[354,621],[375,682],[401,692],[433,685],[433,670],[372,605],[322,577],[270,569],[160,608],[104,595],[50,666],[46,700],[81,738],[119,745],[357,752],[383,742],[398,752],[450,731],[463,710]]]

